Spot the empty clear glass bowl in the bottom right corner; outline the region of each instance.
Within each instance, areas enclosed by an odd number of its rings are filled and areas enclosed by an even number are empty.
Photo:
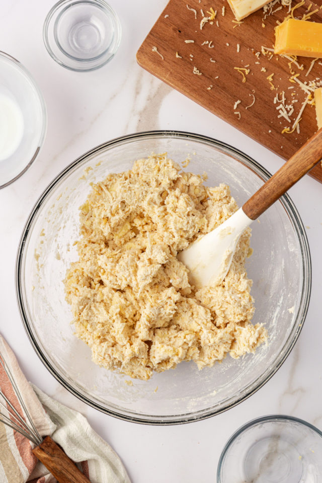
[[[226,443],[217,483],[320,483],[322,433],[306,421],[264,416],[239,428]]]

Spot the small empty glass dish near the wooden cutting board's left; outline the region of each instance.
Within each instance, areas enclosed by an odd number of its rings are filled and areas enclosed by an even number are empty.
[[[46,17],[43,39],[51,57],[63,67],[95,70],[114,57],[121,25],[104,0],[61,0]]]

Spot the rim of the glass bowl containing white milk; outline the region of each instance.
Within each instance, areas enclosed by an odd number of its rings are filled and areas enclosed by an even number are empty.
[[[32,87],[34,88],[37,94],[39,104],[41,107],[41,114],[42,114],[42,128],[39,135],[38,146],[36,148],[36,151],[32,155],[31,159],[28,161],[27,165],[22,169],[20,173],[18,173],[18,175],[16,175],[14,178],[12,178],[9,181],[6,181],[6,183],[0,185],[0,189],[2,189],[2,188],[5,188],[6,186],[11,185],[11,183],[13,183],[14,181],[18,180],[18,178],[20,178],[28,170],[28,168],[33,164],[34,160],[38,156],[40,148],[43,145],[46,130],[47,130],[47,110],[46,110],[46,104],[45,104],[42,92],[37,86],[35,79],[31,75],[29,70],[19,60],[17,60],[15,57],[8,54],[7,52],[4,52],[3,50],[0,50],[0,57],[5,57],[7,60],[15,64],[19,68],[19,70],[21,70],[22,74],[28,79],[28,81],[30,82],[30,84],[32,85]]]

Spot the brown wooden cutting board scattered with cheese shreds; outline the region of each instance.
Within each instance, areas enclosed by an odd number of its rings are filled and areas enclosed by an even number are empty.
[[[310,20],[322,22],[320,5],[309,0],[301,4],[293,11],[295,18],[317,10]],[[295,5],[293,0],[291,6]],[[211,14],[210,7],[217,11],[216,17],[202,25],[203,17]],[[289,7],[275,2],[267,12],[270,15],[260,10],[243,23],[236,23],[226,2],[188,0],[187,4],[185,0],[170,0],[139,48],[137,61],[179,92],[288,159],[317,130],[315,108],[307,104],[300,116],[299,132],[295,128],[292,133],[282,133],[284,128],[292,130],[310,93],[302,90],[292,75],[299,74],[296,78],[304,86],[314,80],[316,86],[322,86],[322,59],[317,59],[308,72],[311,58],[299,57],[296,65],[262,48],[273,48],[276,22],[282,22],[288,11]],[[283,98],[289,121],[278,117],[284,112],[283,108],[277,109]],[[310,174],[322,182],[320,164]]]

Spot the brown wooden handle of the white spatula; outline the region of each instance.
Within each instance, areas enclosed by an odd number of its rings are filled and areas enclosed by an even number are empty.
[[[322,128],[243,205],[245,214],[256,220],[321,159]]]

